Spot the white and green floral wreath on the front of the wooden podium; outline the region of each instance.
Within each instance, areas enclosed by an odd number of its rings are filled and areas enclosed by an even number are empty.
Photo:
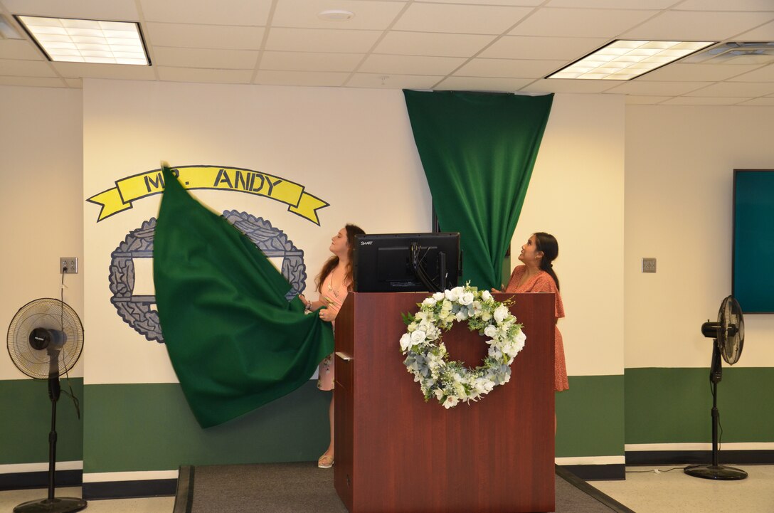
[[[511,364],[524,347],[526,335],[508,310],[509,302],[495,301],[488,291],[464,287],[435,292],[427,297],[414,315],[404,314],[408,330],[400,337],[400,350],[406,354],[406,368],[419,381],[425,401],[438,399],[449,409],[459,402],[478,401],[495,385],[511,378]],[[447,361],[441,330],[448,331],[455,321],[467,320],[467,327],[488,337],[484,364],[467,368],[461,361]]]

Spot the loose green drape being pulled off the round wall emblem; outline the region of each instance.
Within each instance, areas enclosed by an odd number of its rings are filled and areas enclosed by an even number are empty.
[[[163,177],[156,306],[183,393],[210,427],[303,385],[333,352],[333,333],[304,315],[300,299],[285,299],[290,284],[245,234],[191,197],[170,169]]]

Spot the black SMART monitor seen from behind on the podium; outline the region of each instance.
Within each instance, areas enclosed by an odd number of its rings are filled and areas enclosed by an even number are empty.
[[[357,292],[437,292],[462,275],[460,234],[365,234],[354,238]]]

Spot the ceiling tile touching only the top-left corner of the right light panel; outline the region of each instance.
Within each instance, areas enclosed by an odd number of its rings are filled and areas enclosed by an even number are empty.
[[[625,9],[539,9],[509,34],[614,38],[657,13]]]

